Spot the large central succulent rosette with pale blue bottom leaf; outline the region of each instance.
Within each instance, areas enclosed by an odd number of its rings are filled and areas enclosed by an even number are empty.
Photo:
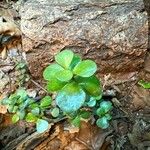
[[[80,109],[87,95],[102,95],[100,81],[94,75],[97,65],[92,60],[81,60],[70,50],[55,56],[56,63],[48,66],[43,77],[47,80],[47,90],[57,92],[56,104],[65,113]]]

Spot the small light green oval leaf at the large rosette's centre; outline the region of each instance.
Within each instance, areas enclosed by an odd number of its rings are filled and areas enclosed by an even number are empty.
[[[62,70],[56,74],[56,78],[62,82],[67,82],[73,77],[73,74],[70,70]]]

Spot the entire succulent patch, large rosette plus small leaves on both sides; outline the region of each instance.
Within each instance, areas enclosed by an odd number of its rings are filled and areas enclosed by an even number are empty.
[[[43,71],[47,91],[56,94],[55,99],[47,95],[37,101],[20,88],[1,102],[13,114],[14,123],[19,120],[33,122],[39,133],[48,129],[50,120],[63,117],[76,127],[81,126],[82,120],[95,117],[97,126],[106,129],[113,106],[110,101],[102,99],[102,86],[96,71],[94,61],[82,60],[71,50],[64,50],[55,56],[55,63]]]

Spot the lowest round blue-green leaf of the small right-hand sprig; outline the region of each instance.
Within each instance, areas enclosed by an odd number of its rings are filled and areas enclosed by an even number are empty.
[[[98,127],[102,128],[102,129],[106,129],[109,127],[109,122],[106,117],[99,118],[96,121],[96,124]]]

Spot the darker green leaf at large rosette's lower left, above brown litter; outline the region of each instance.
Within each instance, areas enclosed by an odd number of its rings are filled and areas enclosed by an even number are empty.
[[[54,78],[53,80],[49,81],[46,89],[49,92],[54,92],[62,89],[66,85],[66,82],[61,82],[60,80]]]

